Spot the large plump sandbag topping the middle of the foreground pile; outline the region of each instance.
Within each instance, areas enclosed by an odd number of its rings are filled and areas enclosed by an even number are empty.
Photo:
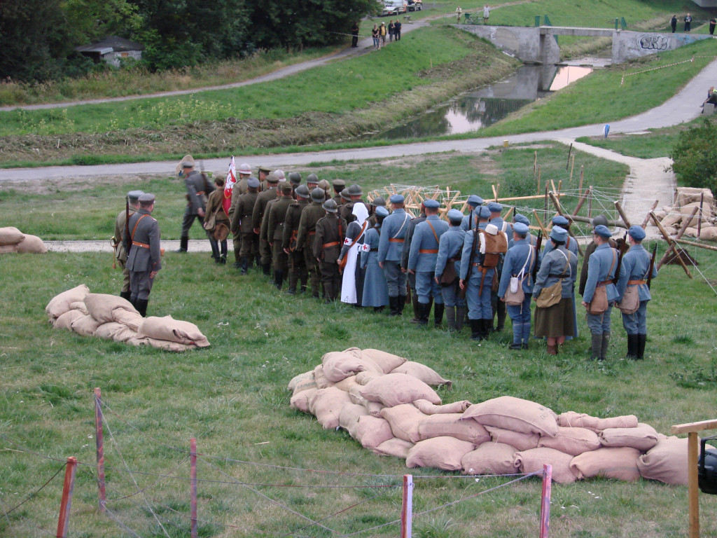
[[[475,418],[486,426],[497,426],[521,433],[538,433],[553,437],[558,433],[555,413],[536,402],[513,396],[500,396],[465,410],[463,418]]]

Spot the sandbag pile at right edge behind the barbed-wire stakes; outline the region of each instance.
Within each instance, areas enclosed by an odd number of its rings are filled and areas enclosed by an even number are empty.
[[[697,212],[693,215],[695,209]],[[677,235],[685,221],[689,220],[690,222],[686,223],[685,235],[699,236],[699,239],[706,241],[717,241],[715,216],[712,191],[693,187],[679,187],[675,203],[655,211],[655,217],[660,219],[660,224],[670,235]]]

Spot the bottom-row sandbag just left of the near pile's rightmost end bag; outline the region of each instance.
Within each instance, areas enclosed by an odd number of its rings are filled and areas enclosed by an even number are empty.
[[[637,458],[640,458],[637,448],[598,448],[575,456],[570,462],[570,470],[578,480],[603,476],[634,482],[640,478]]]

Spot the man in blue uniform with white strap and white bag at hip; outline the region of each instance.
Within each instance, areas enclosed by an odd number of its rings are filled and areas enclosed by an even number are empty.
[[[528,349],[531,338],[531,298],[533,293],[533,267],[537,263],[536,249],[528,242],[528,226],[523,222],[513,225],[513,246],[508,249],[500,275],[498,297],[505,302],[505,292],[511,285],[511,278],[517,278],[523,290],[523,302],[508,305],[508,316],[513,324],[513,342],[508,349]]]

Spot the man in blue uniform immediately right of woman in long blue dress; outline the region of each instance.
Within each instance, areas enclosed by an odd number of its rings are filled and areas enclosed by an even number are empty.
[[[390,315],[400,316],[406,303],[406,275],[401,270],[401,254],[411,214],[404,209],[402,194],[392,194],[389,202],[393,212],[381,226],[379,266],[384,270],[389,286]]]

